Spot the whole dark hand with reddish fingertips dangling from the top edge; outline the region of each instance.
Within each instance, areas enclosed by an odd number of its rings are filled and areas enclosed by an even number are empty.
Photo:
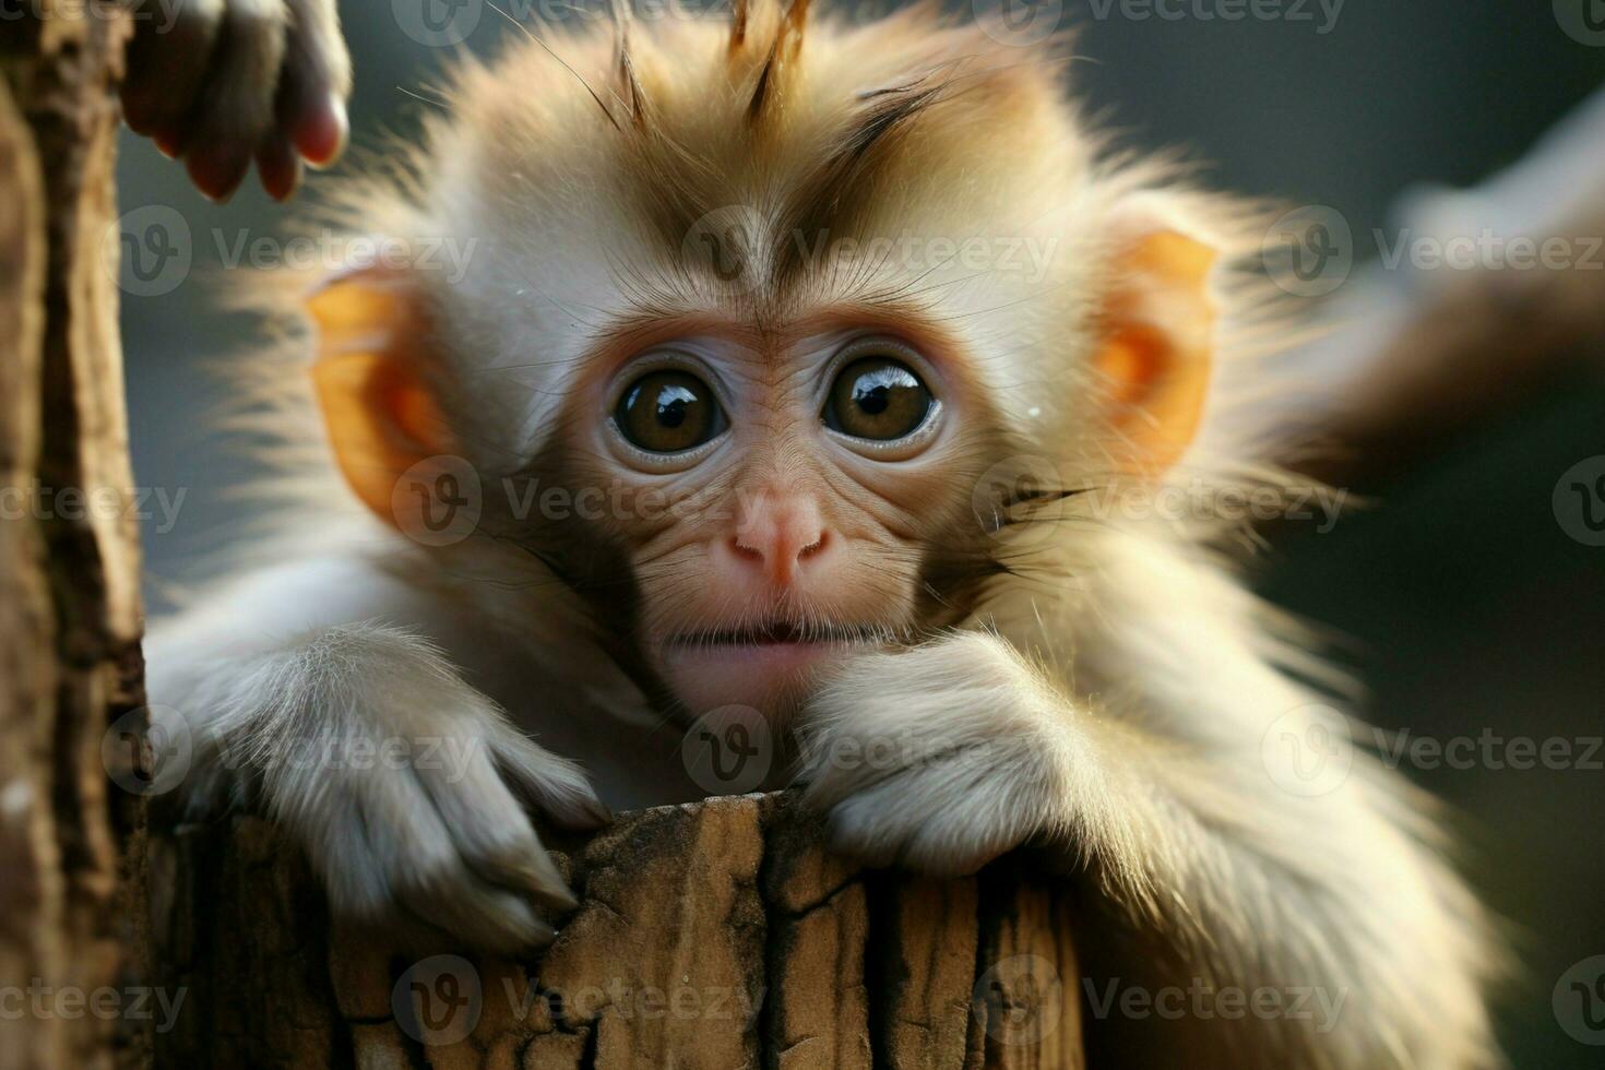
[[[345,148],[351,61],[334,0],[136,0],[122,109],[223,201],[257,160],[278,201]]]

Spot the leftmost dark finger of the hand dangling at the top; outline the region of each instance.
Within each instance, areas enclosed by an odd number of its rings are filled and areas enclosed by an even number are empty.
[[[122,114],[135,133],[157,138],[169,156],[183,151],[212,50],[223,26],[223,0],[177,5],[144,0],[133,11]]]

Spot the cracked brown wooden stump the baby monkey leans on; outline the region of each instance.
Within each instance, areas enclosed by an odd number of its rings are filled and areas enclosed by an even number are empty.
[[[863,871],[786,796],[623,815],[559,842],[581,905],[531,959],[331,924],[252,818],[152,841],[159,1067],[1082,1067],[1063,898]]]

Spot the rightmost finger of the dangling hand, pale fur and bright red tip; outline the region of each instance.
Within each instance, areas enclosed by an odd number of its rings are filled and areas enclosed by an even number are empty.
[[[274,103],[279,132],[313,167],[327,167],[350,132],[351,58],[332,0],[289,0],[284,67]]]

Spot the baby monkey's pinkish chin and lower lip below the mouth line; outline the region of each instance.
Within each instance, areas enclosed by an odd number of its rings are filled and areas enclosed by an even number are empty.
[[[777,720],[794,714],[851,650],[804,642],[672,646],[663,655],[663,672],[693,715],[748,706]]]

